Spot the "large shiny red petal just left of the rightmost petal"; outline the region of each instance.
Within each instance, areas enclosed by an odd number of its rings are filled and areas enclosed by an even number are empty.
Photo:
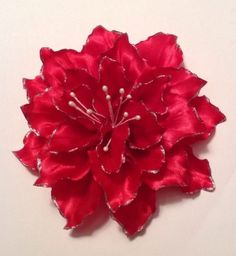
[[[185,138],[203,134],[204,125],[188,102],[176,94],[168,94],[164,101],[168,106],[168,115],[159,120],[165,128],[163,144],[170,149]]]

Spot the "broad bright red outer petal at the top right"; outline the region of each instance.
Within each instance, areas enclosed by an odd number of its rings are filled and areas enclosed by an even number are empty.
[[[176,44],[177,37],[157,33],[136,45],[140,55],[156,67],[179,67],[183,62],[182,51]]]

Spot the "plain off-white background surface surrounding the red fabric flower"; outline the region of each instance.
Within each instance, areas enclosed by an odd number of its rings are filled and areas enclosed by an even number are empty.
[[[200,154],[216,191],[194,199],[161,192],[159,214],[134,240],[107,218],[80,234],[63,230],[50,191],[33,187],[11,154],[27,131],[21,79],[38,74],[39,49],[80,50],[99,24],[133,43],[158,31],[178,35],[186,66],[208,81],[202,93],[228,119]],[[0,0],[0,255],[236,255],[235,73],[235,0]]]

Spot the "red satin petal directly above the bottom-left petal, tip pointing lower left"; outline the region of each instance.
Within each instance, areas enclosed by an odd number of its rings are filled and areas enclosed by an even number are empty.
[[[54,186],[59,180],[80,180],[90,170],[86,151],[48,153],[41,160],[40,177],[35,182],[37,186]]]

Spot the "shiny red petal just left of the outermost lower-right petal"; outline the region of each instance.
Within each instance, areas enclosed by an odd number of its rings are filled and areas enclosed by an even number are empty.
[[[175,147],[166,155],[166,164],[156,174],[144,173],[144,182],[154,190],[163,187],[186,186],[188,155],[184,148]]]

